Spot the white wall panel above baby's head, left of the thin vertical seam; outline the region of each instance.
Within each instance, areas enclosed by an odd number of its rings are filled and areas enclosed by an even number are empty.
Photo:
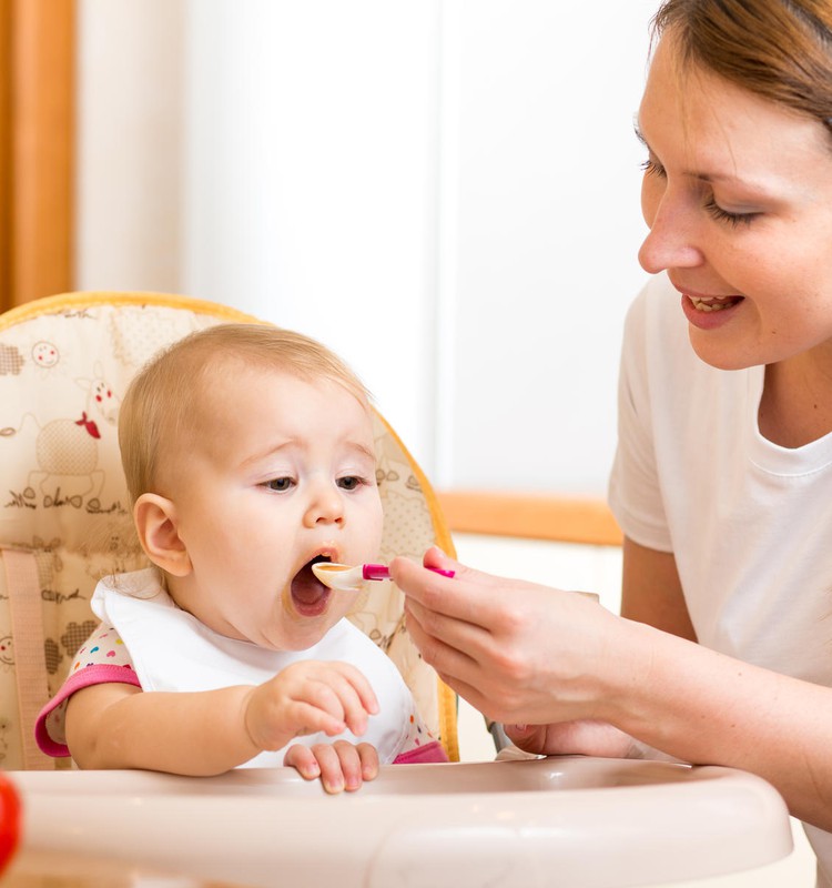
[[[187,292],[326,342],[429,454],[437,3],[189,10]]]

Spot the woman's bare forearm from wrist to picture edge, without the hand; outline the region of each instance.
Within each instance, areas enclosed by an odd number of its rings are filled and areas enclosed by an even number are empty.
[[[611,677],[608,720],[686,761],[757,774],[832,829],[832,689],[623,623],[631,665]]]

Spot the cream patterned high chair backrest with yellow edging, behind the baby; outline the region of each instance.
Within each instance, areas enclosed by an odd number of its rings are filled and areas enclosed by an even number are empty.
[[[69,765],[38,750],[34,718],[95,625],[98,578],[146,565],[119,456],[121,396],[160,349],[232,321],[258,322],[159,293],[69,293],[0,315],[0,768]],[[375,424],[381,558],[418,558],[434,542],[453,552],[427,478],[378,413]],[[403,614],[385,582],[351,619],[392,657],[455,760],[456,697],[418,655]]]

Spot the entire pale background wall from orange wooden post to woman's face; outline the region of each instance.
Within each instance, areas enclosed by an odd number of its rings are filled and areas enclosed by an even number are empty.
[[[656,0],[80,0],[79,289],[311,333],[435,483],[602,493]]]

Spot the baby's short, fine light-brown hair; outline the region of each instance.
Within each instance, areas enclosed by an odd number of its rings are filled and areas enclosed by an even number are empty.
[[[128,387],[119,411],[119,446],[131,502],[154,492],[159,455],[181,446],[210,397],[211,381],[246,367],[304,382],[328,380],[369,408],[361,380],[319,342],[266,324],[219,324],[192,333],[153,357]]]

